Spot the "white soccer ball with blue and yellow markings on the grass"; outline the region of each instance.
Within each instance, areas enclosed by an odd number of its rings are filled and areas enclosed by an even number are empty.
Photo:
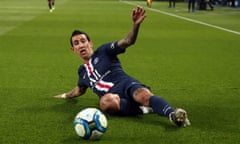
[[[76,115],[73,125],[81,138],[97,140],[107,130],[107,118],[97,108],[85,108]]]

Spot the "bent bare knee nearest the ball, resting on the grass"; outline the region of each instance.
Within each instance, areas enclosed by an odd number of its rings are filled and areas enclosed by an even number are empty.
[[[120,98],[117,94],[105,94],[99,102],[100,109],[107,113],[115,113],[120,110]]]

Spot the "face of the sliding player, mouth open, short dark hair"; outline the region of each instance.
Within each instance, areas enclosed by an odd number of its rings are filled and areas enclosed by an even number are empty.
[[[88,41],[86,35],[79,34],[72,37],[72,43],[72,50],[87,62],[93,54],[92,42]]]

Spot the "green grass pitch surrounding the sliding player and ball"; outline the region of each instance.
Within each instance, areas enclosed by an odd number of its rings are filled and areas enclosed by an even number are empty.
[[[155,114],[108,117],[101,140],[80,139],[73,119],[97,106],[90,90],[73,100],[53,96],[77,83],[79,58],[70,51],[74,29],[88,32],[95,48],[127,34],[130,13],[147,18],[137,43],[120,56],[126,72],[174,107],[192,125],[179,129]],[[240,142],[240,8],[187,12],[187,3],[118,0],[0,1],[1,144],[237,144]]]

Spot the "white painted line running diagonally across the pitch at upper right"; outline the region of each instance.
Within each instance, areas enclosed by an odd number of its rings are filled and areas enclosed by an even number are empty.
[[[120,2],[136,6],[136,4],[134,4],[132,2],[129,2],[129,1],[122,1],[122,0],[120,0]],[[183,17],[183,16],[175,15],[175,14],[172,14],[172,13],[164,12],[164,11],[153,9],[153,8],[147,8],[147,9],[150,10],[150,11],[162,13],[162,14],[165,14],[165,15],[168,15],[168,16],[176,17],[176,18],[179,18],[179,19],[183,19],[183,20],[186,20],[186,21],[193,22],[193,23],[205,25],[205,26],[208,26],[208,27],[212,27],[212,28],[215,28],[215,29],[219,29],[219,30],[223,30],[223,31],[226,31],[226,32],[230,32],[230,33],[234,33],[234,34],[240,35],[240,32],[238,32],[238,31],[226,29],[226,28],[223,28],[223,27],[220,27],[220,26],[208,24],[208,23],[205,23],[205,22],[201,22],[201,21],[198,21],[198,20],[186,18],[186,17]]]

